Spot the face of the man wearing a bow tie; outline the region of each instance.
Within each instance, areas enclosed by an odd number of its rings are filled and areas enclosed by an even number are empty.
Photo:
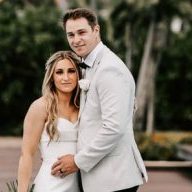
[[[67,39],[71,49],[85,58],[100,41],[99,26],[92,29],[85,18],[69,19],[66,22]]]

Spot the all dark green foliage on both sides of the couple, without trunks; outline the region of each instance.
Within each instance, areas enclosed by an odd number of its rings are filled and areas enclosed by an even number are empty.
[[[70,4],[74,7],[78,2]],[[158,27],[167,27],[166,47],[153,50],[154,54],[163,53],[156,78],[155,125],[159,130],[190,130],[191,1],[114,0],[110,4],[115,7],[110,15],[113,40],[108,39],[106,20],[99,17],[102,40],[125,60],[125,29],[129,26],[136,80],[150,20],[154,19]],[[175,16],[183,20],[182,31],[178,34],[169,29]],[[154,41],[158,44],[156,36]],[[61,28],[61,13],[52,0],[4,0],[0,3],[0,134],[21,135],[27,108],[41,95],[46,59],[61,49],[69,47]]]

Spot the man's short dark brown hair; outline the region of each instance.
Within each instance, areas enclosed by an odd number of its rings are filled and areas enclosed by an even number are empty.
[[[64,28],[66,27],[66,23],[69,19],[76,20],[80,18],[85,18],[92,29],[98,24],[97,16],[92,10],[86,8],[76,8],[67,11],[63,16]]]

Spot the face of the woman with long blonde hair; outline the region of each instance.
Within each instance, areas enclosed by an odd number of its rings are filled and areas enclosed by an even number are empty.
[[[53,81],[56,90],[62,93],[72,93],[77,86],[77,70],[68,59],[57,62],[54,72]]]

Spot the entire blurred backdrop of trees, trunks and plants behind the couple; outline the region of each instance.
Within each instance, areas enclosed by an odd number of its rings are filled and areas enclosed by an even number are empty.
[[[46,60],[69,49],[62,15],[75,7],[96,11],[102,41],[134,75],[142,154],[171,160],[176,143],[192,137],[191,0],[0,0],[0,135],[22,135],[25,113],[41,95]],[[175,135],[159,131],[189,134],[170,141]]]

